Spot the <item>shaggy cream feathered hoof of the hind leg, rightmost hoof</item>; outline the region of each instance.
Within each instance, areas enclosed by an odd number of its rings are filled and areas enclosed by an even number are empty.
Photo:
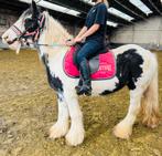
[[[119,137],[119,138],[128,139],[130,137],[131,133],[132,133],[132,127],[130,127],[126,124],[122,124],[122,123],[119,123],[114,128],[115,136]]]

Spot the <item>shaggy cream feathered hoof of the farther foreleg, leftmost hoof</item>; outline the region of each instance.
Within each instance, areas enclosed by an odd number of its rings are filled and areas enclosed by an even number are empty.
[[[55,124],[50,128],[50,138],[60,138],[62,136],[65,136],[68,131],[68,125],[61,125],[61,124]]]

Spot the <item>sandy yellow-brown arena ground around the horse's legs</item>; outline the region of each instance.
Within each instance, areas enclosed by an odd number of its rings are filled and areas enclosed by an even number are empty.
[[[162,104],[162,52],[159,58],[159,100]],[[162,123],[154,129],[140,118],[130,139],[112,135],[123,118],[129,92],[123,89],[102,97],[80,97],[86,137],[69,147],[64,138],[51,141],[56,121],[56,96],[50,89],[35,51],[0,51],[0,156],[161,156]],[[162,113],[162,106],[160,106]]]

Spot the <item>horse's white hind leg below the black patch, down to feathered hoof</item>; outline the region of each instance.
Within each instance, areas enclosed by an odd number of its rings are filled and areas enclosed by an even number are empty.
[[[130,106],[127,116],[115,126],[114,134],[120,138],[129,138],[132,133],[132,125],[140,111],[142,92],[140,90],[130,91]]]

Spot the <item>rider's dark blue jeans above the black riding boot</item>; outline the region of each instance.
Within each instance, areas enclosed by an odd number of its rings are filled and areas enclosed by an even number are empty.
[[[83,61],[87,61],[93,56],[99,54],[99,50],[104,48],[104,43],[99,43],[98,41],[89,40],[85,43],[80,44],[80,48],[77,50],[74,60],[75,64],[79,69],[79,64]]]

